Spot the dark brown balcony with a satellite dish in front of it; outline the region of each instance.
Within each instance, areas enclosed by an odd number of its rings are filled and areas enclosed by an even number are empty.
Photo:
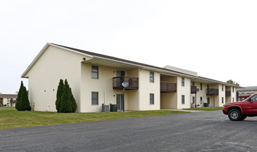
[[[123,82],[128,82],[126,90],[138,89],[138,77],[113,77],[113,89],[123,89]]]

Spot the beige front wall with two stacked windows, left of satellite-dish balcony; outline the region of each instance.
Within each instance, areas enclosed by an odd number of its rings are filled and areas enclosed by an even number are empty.
[[[101,112],[106,91],[106,105],[116,104],[116,94],[122,91],[113,90],[113,77],[116,77],[115,68],[99,66],[99,79],[92,78],[92,64],[81,63],[81,112]],[[99,93],[99,105],[92,105],[92,92]],[[126,97],[126,95],[125,95]],[[126,101],[126,99],[125,99]]]

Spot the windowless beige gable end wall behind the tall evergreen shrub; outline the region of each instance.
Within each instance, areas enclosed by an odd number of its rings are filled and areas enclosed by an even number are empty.
[[[56,91],[60,79],[67,79],[80,108],[81,61],[84,55],[49,46],[28,71],[28,99],[35,111],[56,111]]]

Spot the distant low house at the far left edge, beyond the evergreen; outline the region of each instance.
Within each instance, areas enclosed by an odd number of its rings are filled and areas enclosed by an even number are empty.
[[[17,95],[0,94],[0,106],[15,106]]]

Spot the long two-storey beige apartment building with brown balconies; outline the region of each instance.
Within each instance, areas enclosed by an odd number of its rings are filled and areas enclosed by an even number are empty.
[[[56,111],[60,79],[69,82],[79,113],[100,112],[102,104],[117,104],[120,111],[222,106],[235,101],[238,87],[190,70],[160,68],[51,43],[22,77],[28,78],[28,97],[35,111]],[[122,82],[128,82],[124,94]]]

